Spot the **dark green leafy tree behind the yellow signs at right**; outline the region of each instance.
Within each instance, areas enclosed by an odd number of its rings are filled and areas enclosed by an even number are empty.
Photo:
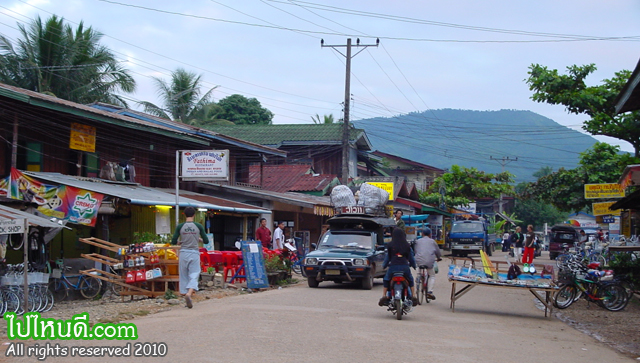
[[[616,183],[627,165],[638,163],[637,158],[619,151],[619,146],[596,143],[580,154],[577,168],[560,168],[535,183],[529,183],[521,197],[550,203],[563,212],[589,209],[591,203],[598,200],[584,198],[585,184]]]

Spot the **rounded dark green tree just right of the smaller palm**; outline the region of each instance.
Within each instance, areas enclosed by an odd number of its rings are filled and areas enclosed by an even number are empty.
[[[260,105],[255,98],[231,95],[218,102],[223,111],[220,118],[236,125],[271,125],[273,113]]]

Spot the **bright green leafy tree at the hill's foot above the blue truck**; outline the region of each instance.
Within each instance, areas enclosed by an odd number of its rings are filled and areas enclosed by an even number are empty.
[[[508,171],[489,174],[476,168],[453,165],[451,170],[437,177],[429,190],[420,195],[425,204],[453,207],[468,205],[479,198],[499,198],[513,194],[513,174]]]

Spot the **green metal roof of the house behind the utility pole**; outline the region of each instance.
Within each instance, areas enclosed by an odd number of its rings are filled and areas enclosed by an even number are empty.
[[[280,147],[282,145],[308,145],[341,143],[342,124],[290,124],[290,125],[235,125],[215,126],[212,131],[237,137],[256,144]],[[362,140],[364,138],[364,140]],[[361,143],[366,139],[364,130],[351,129],[350,141]]]

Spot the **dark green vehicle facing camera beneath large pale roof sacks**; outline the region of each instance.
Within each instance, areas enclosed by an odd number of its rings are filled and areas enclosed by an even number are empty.
[[[347,281],[359,282],[363,289],[371,290],[373,279],[384,277],[385,230],[390,232],[395,221],[361,212],[343,213],[327,221],[329,230],[302,263],[309,287],[318,287],[321,281]]]

